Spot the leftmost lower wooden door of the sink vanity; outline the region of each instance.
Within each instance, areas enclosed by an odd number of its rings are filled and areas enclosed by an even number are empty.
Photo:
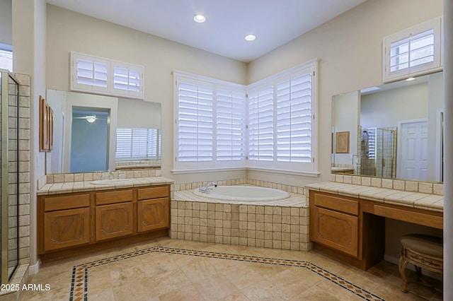
[[[90,242],[90,208],[44,213],[44,250]]]

